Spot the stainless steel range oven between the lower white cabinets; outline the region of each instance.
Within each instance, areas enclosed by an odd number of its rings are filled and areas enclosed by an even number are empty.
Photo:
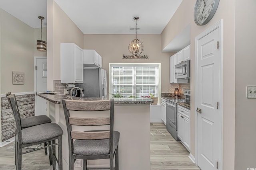
[[[177,104],[166,101],[166,129],[176,141],[180,141],[177,127]]]

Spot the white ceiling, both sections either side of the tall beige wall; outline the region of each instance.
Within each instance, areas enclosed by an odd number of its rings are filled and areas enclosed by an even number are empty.
[[[55,0],[84,34],[160,34],[182,0]],[[33,28],[46,18],[47,0],[0,0],[0,8]],[[43,27],[46,25],[43,20]]]

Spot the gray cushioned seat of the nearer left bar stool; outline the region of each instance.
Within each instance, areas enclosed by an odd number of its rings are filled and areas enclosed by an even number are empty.
[[[22,129],[22,144],[36,143],[58,137],[63,131],[56,123],[44,123]]]

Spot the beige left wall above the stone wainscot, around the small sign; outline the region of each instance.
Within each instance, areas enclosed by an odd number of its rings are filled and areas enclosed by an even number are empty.
[[[1,16],[1,93],[34,91],[34,29],[4,10]],[[24,72],[24,85],[12,84],[12,71]]]

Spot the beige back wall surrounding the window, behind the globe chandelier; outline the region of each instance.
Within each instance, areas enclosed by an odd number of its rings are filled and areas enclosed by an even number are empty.
[[[84,35],[84,49],[94,49],[102,56],[102,68],[108,72],[108,63],[161,63],[161,89],[170,89],[169,57],[174,53],[162,53],[160,35],[138,35],[144,44],[141,55],[149,59],[122,59],[122,55],[132,55],[128,50],[135,35]],[[109,80],[109,79],[108,79]]]

